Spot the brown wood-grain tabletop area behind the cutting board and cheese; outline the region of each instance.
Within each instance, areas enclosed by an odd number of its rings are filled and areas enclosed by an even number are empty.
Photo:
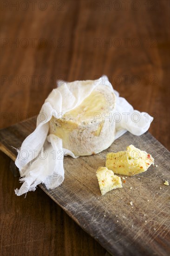
[[[127,10],[121,2],[118,11],[113,4],[110,9],[103,6],[102,1],[97,7],[97,1],[77,0],[60,4],[48,1],[44,11],[38,2],[33,11],[31,4],[27,11],[22,10],[24,6],[18,11],[13,7],[10,15],[10,6],[4,7],[1,112],[5,114],[1,128],[38,114],[47,95],[56,87],[57,79],[94,79],[106,74],[134,108],[154,115],[150,132],[170,149],[167,139],[170,138],[167,116],[170,2],[153,1],[148,7],[143,0],[137,2],[140,4],[137,11],[133,10],[137,8],[135,5],[131,7],[132,1]],[[159,21],[157,17],[161,17]],[[111,45],[107,44],[109,39]],[[12,43],[15,40],[18,44]],[[26,43],[28,46],[24,47]],[[134,76],[138,78],[135,80]]]

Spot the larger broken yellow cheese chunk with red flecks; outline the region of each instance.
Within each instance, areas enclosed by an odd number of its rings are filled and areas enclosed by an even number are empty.
[[[152,156],[130,145],[126,151],[106,155],[106,167],[116,174],[136,175],[145,172],[154,163]]]

